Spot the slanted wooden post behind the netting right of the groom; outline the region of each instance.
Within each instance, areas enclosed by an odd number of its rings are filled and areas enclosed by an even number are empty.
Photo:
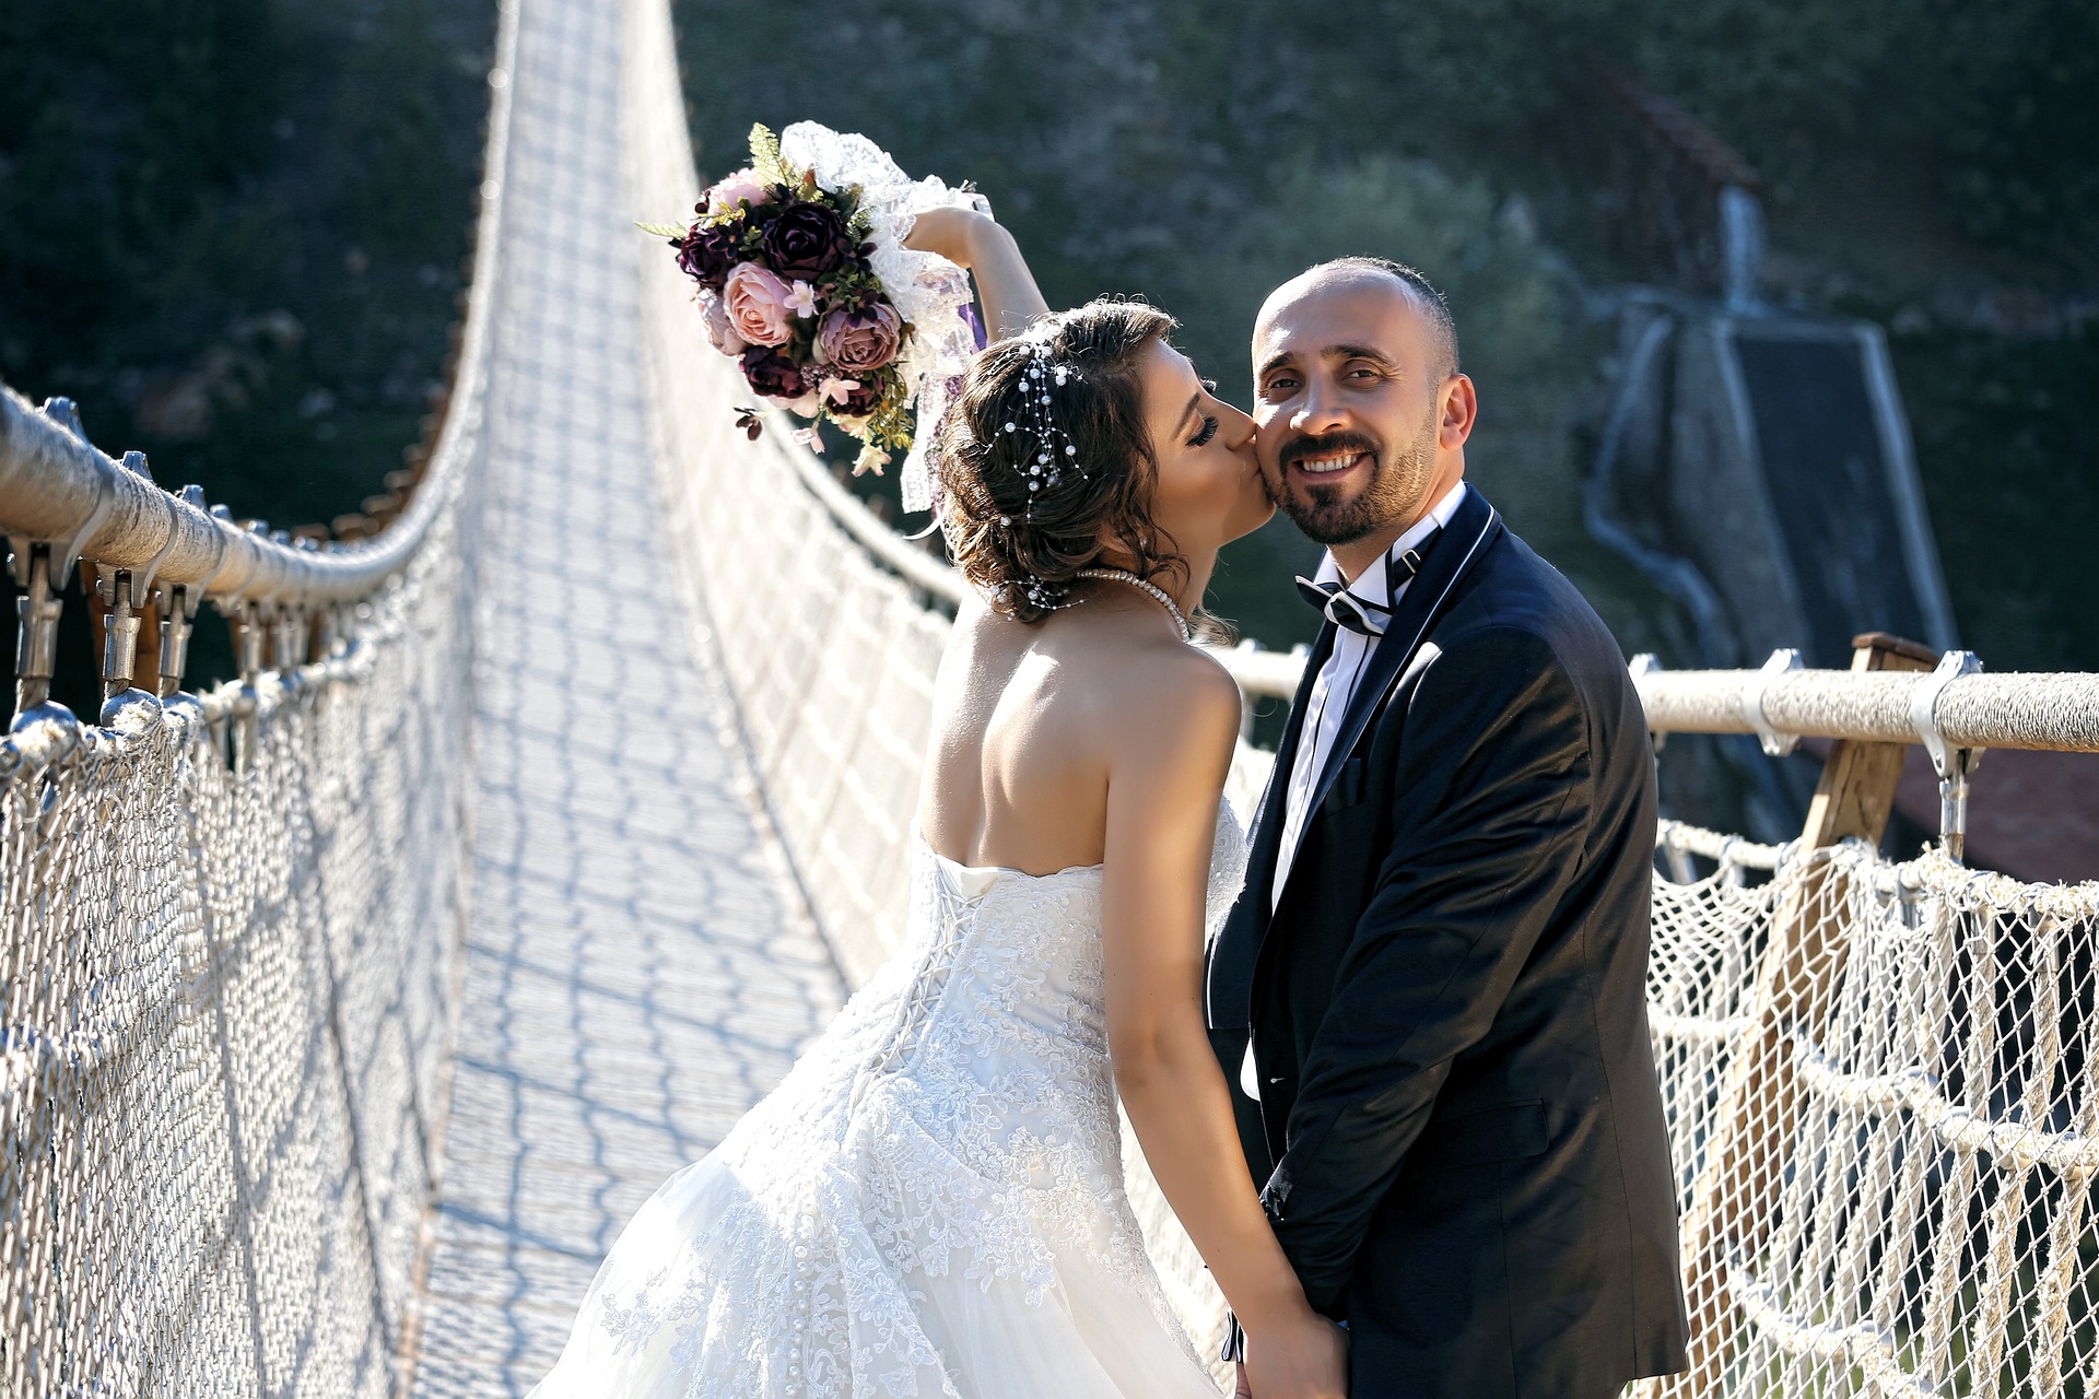
[[[1851,640],[1853,671],[1929,671],[1937,652],[1881,631]],[[1839,740],[1822,763],[1807,805],[1805,849],[1862,839],[1879,845],[1895,808],[1904,742]],[[1843,929],[1822,917],[1841,891],[1830,870],[1809,870],[1780,904],[1757,986],[1742,1007],[1755,1026],[1736,1047],[1713,1112],[1704,1166],[1683,1219],[1683,1290],[1690,1298],[1690,1370],[1658,1386],[1669,1399],[1711,1399],[1736,1349],[1736,1307],[1727,1290],[1732,1254],[1757,1256],[1778,1214],[1780,1172],[1799,1126],[1793,1032],[1828,1013]]]

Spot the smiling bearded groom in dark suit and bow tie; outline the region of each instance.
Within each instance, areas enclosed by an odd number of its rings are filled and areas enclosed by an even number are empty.
[[[1253,365],[1261,472],[1329,554],[1209,950],[1247,1164],[1352,1399],[1606,1399],[1685,1342],[1639,698],[1465,485],[1473,386],[1419,273],[1314,266]]]

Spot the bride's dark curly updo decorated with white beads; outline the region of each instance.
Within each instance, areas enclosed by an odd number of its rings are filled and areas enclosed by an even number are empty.
[[[1081,568],[1106,566],[1104,539],[1136,560],[1138,577],[1184,568],[1150,520],[1159,468],[1138,380],[1138,361],[1173,325],[1157,306],[1104,296],[1043,317],[970,363],[932,457],[955,566],[999,612],[1024,623],[1054,612]],[[1031,375],[1033,367],[1043,373]],[[1062,434],[1054,476],[1031,474],[1039,461],[1024,415],[1031,392],[1050,396]]]

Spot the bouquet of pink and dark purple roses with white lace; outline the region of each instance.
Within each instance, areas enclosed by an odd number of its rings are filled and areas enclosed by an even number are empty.
[[[930,508],[913,417],[932,424],[978,346],[970,277],[905,247],[921,210],[980,208],[982,195],[909,180],[867,136],[798,122],[751,128],[751,164],[722,176],[691,227],[642,224],[670,239],[699,283],[707,340],[737,359],[751,390],[812,419],[796,440],[823,451],[829,419],[863,443],[854,474],[905,451],[905,510]],[[737,424],[756,440],[758,409]]]

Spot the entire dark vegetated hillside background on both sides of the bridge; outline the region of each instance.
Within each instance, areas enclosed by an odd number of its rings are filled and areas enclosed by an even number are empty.
[[[1175,313],[1238,403],[1276,281],[1341,252],[1423,266],[1482,390],[1473,476],[1629,650],[1669,648],[1667,608],[1587,539],[1578,491],[1612,289],[1669,273],[1614,237],[1625,117],[1604,92],[1667,96],[1761,176],[1767,292],[1889,325],[1963,640],[1996,669],[2099,669],[2082,0],[676,13],[703,170],[739,164],[754,122],[865,130],[982,187],[1054,302]],[[237,516],[357,510],[443,375],[493,19],[485,0],[0,0],[0,375],[76,399],[97,443]],[[1303,640],[1278,583],[1310,558],[1270,526],[1228,556],[1220,610]],[[222,673],[202,646],[199,677]]]

